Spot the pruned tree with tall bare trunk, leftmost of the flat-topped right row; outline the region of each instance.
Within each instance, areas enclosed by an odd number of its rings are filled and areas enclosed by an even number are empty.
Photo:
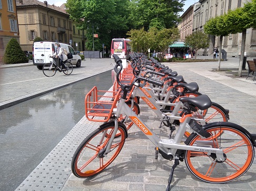
[[[227,27],[224,22],[225,15],[221,15],[215,18],[212,18],[208,20],[208,22],[204,25],[204,32],[206,34],[220,36],[220,51],[222,49],[222,41],[223,36],[228,36],[232,29]],[[219,53],[219,65],[218,65],[218,71],[220,71],[220,65],[221,65],[221,52]]]

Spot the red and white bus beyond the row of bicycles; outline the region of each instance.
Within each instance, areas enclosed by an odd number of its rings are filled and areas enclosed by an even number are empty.
[[[121,59],[129,59],[131,51],[130,41],[130,39],[125,38],[113,38],[111,44],[111,58],[113,58],[113,54],[115,54]]]

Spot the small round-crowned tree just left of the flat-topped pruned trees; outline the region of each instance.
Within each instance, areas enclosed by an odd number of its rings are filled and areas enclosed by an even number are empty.
[[[209,47],[209,36],[202,31],[194,31],[191,35],[185,37],[184,43],[185,46],[193,47],[196,59],[197,52],[200,48]]]

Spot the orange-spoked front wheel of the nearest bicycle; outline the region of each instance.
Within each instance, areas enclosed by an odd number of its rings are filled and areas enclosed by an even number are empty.
[[[112,135],[114,126],[114,121],[101,125],[77,147],[71,162],[72,173],[76,177],[86,178],[99,174],[120,153],[127,137],[127,130],[122,123],[119,123],[117,130],[120,136],[113,140],[111,151],[104,157],[98,157],[110,140],[110,136],[106,137],[104,132],[110,132],[108,134]]]

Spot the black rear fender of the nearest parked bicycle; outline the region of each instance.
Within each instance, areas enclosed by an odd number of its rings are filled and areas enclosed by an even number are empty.
[[[255,142],[255,139],[256,139],[256,134],[251,134],[249,133],[249,131],[247,131],[246,129],[244,129],[242,126],[238,125],[238,124],[235,124],[235,123],[231,123],[231,122],[213,122],[213,123],[208,123],[204,126],[202,126],[202,128],[204,130],[208,130],[209,128],[212,128],[214,126],[228,126],[228,127],[232,127],[232,128],[236,128],[242,132],[244,132],[245,134],[248,135],[248,137],[251,139],[252,143],[253,143],[253,146],[256,147],[256,142]],[[190,136],[186,139],[186,141],[184,142],[186,145],[188,145],[192,138],[195,137],[196,133],[191,133]]]

